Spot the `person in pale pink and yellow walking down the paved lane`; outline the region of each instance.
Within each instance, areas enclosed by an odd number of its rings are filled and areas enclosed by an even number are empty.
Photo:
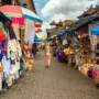
[[[46,43],[45,45],[45,58],[46,58],[46,66],[51,66],[51,46],[50,43]]]

